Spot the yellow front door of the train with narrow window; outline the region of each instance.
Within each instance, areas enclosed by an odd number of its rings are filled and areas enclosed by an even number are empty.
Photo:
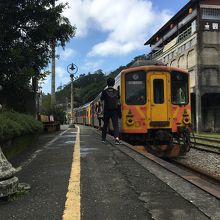
[[[159,126],[159,123],[169,121],[168,109],[168,77],[166,73],[152,73],[148,75],[150,82],[150,126]],[[165,126],[168,124],[166,123]]]

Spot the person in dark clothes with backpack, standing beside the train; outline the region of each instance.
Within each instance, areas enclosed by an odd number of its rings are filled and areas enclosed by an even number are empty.
[[[106,133],[109,124],[109,119],[111,118],[113,128],[114,128],[114,137],[115,144],[120,144],[119,141],[119,127],[118,127],[118,102],[119,94],[116,89],[113,88],[115,85],[114,78],[107,79],[107,88],[102,91],[101,101],[104,101],[104,125],[102,128],[102,142],[106,141]]]

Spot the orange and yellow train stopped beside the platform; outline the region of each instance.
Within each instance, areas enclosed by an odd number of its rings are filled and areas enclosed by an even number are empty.
[[[158,61],[138,61],[115,78],[122,117],[120,137],[143,144],[159,157],[179,157],[191,148],[189,73]],[[75,123],[98,127],[95,111],[101,93],[74,109]],[[113,127],[110,123],[109,131]]]

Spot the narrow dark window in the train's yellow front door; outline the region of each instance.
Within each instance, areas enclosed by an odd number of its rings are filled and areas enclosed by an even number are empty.
[[[164,103],[164,82],[163,79],[154,79],[154,103]]]

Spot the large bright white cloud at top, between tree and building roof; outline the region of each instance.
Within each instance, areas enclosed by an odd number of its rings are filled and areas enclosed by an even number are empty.
[[[65,1],[65,0],[60,0]],[[157,11],[152,0],[68,0],[64,15],[76,25],[76,37],[91,29],[106,34],[94,45],[89,56],[126,55],[143,48],[144,42],[172,15]]]

